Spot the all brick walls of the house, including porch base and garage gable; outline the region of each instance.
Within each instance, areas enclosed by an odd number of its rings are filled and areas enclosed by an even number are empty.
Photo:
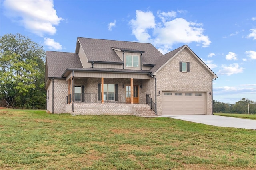
[[[179,62],[190,62],[190,72],[180,72]],[[186,49],[181,51],[168,64],[166,64],[156,75],[157,80],[157,114],[162,115],[162,92],[181,91],[181,92],[206,92],[206,114],[212,114],[211,92],[212,75],[199,63],[199,61]],[[118,84],[118,93],[126,94],[124,86],[130,84],[130,79],[104,78],[104,84]],[[122,103],[86,103],[74,102],[74,112],[72,104],[66,104],[68,96],[68,82],[65,80],[54,79],[54,110],[53,113],[72,113],[90,115],[137,115],[151,116],[154,111],[146,104],[146,94],[150,94],[155,102],[155,79],[138,80],[134,79],[134,85],[139,88],[140,104]],[[98,93],[98,83],[101,78],[74,78],[75,86],[84,85],[85,93]],[[142,88],[140,88],[142,85]],[[49,91],[49,92],[48,92]],[[160,91],[160,94],[158,94]],[[48,94],[49,93],[49,94]],[[52,113],[52,81],[47,88],[48,111]]]

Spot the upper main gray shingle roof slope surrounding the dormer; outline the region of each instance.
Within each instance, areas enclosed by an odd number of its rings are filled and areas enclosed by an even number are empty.
[[[143,53],[144,64],[154,64],[162,53],[150,43],[138,43],[128,41],[115,41],[106,39],[78,38],[88,61],[122,62],[111,47],[117,49],[130,49],[133,51],[145,51]],[[77,52],[77,51],[76,51]]]

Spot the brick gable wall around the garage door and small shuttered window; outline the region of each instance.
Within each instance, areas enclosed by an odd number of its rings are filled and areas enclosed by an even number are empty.
[[[180,72],[179,62],[190,62],[190,72]],[[212,96],[209,95],[212,87],[212,75],[184,49],[156,75],[157,79],[157,113],[162,115],[162,92],[206,92],[206,114],[212,114]],[[153,97],[153,96],[152,96]]]

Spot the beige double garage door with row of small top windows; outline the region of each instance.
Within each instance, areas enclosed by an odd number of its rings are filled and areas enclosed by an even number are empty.
[[[163,115],[206,114],[205,92],[163,92]]]

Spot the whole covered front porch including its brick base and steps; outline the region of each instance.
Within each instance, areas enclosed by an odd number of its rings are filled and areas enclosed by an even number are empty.
[[[138,115],[143,111],[154,115],[146,100],[146,94],[151,93],[152,87],[152,81],[147,74],[107,74],[106,77],[82,77],[73,74],[74,76],[66,79],[67,113]],[[135,78],[130,78],[131,76]]]

